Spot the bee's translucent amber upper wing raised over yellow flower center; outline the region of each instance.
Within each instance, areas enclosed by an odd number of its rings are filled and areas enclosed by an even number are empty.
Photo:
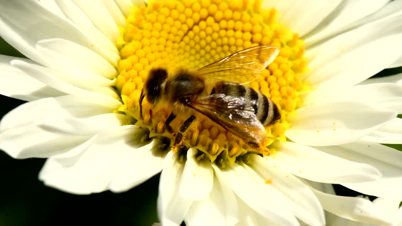
[[[238,51],[198,70],[208,78],[229,80],[246,84],[261,75],[279,54],[279,48],[272,45],[258,45]]]

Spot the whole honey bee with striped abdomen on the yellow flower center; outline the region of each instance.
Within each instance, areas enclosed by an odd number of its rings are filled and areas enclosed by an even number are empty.
[[[180,69],[168,75],[164,68],[153,69],[139,99],[140,117],[145,97],[151,105],[166,103],[172,107],[165,123],[171,134],[174,131],[169,124],[176,115],[190,115],[174,134],[172,150],[182,144],[185,132],[197,115],[208,117],[251,148],[263,150],[267,141],[264,126],[277,122],[281,114],[269,98],[244,84],[260,76],[278,53],[277,47],[258,45],[198,70]]]

